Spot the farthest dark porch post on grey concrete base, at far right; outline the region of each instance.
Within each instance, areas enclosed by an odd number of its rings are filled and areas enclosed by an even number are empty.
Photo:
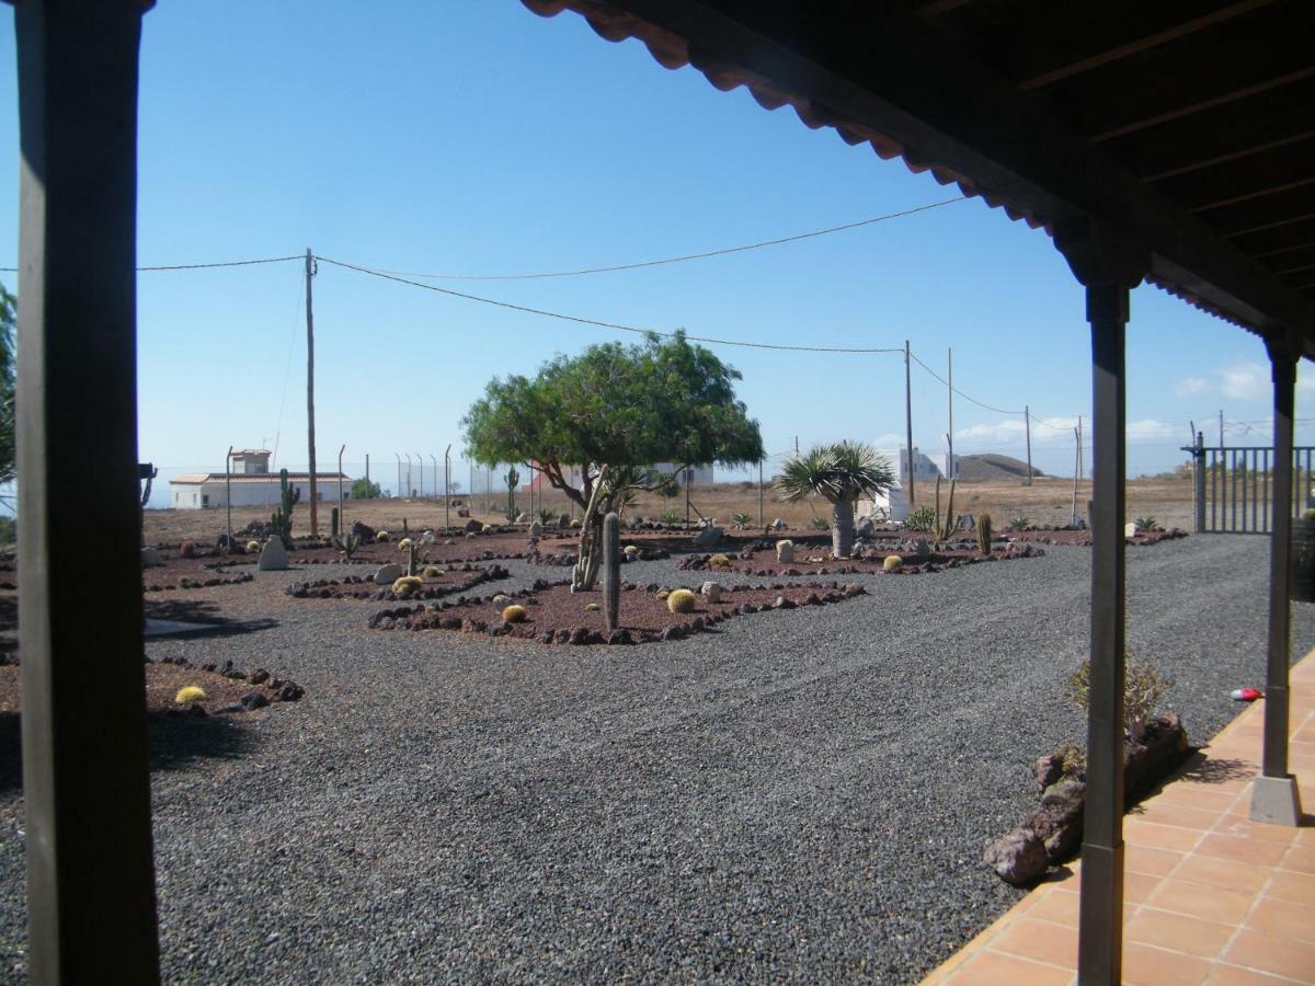
[[[1297,778],[1287,773],[1287,664],[1291,649],[1293,413],[1299,350],[1286,340],[1266,340],[1266,344],[1274,379],[1274,498],[1269,535],[1265,752],[1261,776],[1252,785],[1251,818],[1297,826],[1302,819],[1302,801]]]

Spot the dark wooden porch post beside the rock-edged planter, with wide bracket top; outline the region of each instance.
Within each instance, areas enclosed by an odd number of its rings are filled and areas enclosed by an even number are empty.
[[[1060,223],[1055,245],[1086,288],[1094,405],[1091,505],[1091,677],[1078,981],[1118,983],[1123,966],[1123,682],[1127,507],[1124,334],[1128,294],[1149,267],[1145,250],[1091,227]]]

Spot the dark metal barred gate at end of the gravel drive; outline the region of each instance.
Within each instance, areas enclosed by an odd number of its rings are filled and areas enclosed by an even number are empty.
[[[1202,534],[1269,534],[1273,448],[1187,448],[1195,460],[1195,528]],[[1294,515],[1315,506],[1315,447],[1293,450]]]

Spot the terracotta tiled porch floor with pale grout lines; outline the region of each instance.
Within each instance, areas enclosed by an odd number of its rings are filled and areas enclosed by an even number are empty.
[[[1247,818],[1264,699],[1124,818],[1124,982],[1315,983],[1315,652],[1293,668],[1291,685],[1301,828]],[[1081,866],[1070,869],[923,982],[1073,982]]]

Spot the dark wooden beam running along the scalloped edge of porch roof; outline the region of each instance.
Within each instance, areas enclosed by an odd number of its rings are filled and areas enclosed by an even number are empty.
[[[571,7],[610,39],[647,33],[644,41],[663,64],[688,60],[721,88],[727,78],[751,88],[761,80],[772,93],[788,93],[810,124],[839,126],[847,139],[884,135],[911,163],[951,172],[965,189],[1032,221],[1053,226],[1082,216],[1107,225],[1149,247],[1152,281],[1265,335],[1295,330],[1315,355],[1315,305],[1299,291],[896,4],[526,4],[544,13]],[[685,50],[673,50],[673,42]]]

